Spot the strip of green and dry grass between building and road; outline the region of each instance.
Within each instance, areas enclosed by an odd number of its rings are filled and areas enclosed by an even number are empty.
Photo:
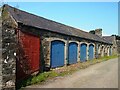
[[[107,61],[109,59],[113,59],[113,58],[117,58],[117,55],[112,55],[112,56],[105,56],[105,57],[101,57],[99,59],[93,59],[93,60],[88,60],[86,62],[83,63],[77,63],[77,64],[73,64],[73,65],[69,65],[69,66],[65,66],[65,67],[61,67],[49,72],[43,72],[43,73],[39,73],[38,75],[34,75],[34,76],[30,76],[27,79],[22,80],[21,82],[19,82],[17,85],[18,88],[21,87],[25,87],[28,85],[32,85],[32,84],[36,84],[36,83],[41,83],[44,82],[48,79],[57,77],[57,76],[65,76],[65,75],[69,75],[74,73],[75,71],[78,71],[80,69],[84,69],[87,68],[90,65],[96,64],[96,63],[100,63],[103,61]]]

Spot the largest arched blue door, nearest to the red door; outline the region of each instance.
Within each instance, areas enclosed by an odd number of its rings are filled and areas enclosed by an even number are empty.
[[[51,68],[64,66],[64,42],[53,41],[51,43]]]

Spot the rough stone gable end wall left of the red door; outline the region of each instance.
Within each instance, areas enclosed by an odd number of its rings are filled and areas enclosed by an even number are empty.
[[[6,8],[2,11],[2,89],[15,90],[16,82],[16,50],[17,36],[15,33],[16,23],[9,15]]]

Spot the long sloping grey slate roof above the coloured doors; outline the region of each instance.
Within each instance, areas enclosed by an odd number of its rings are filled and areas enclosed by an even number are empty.
[[[11,7],[7,4],[5,4],[3,7],[7,7],[8,12],[12,15],[17,23],[23,23],[24,25],[36,27],[39,29],[111,44],[100,36],[90,34],[80,29],[48,20],[46,18]]]

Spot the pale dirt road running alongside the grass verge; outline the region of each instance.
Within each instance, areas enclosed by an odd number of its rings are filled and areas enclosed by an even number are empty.
[[[118,88],[118,59],[101,62],[72,75],[28,88]]]

